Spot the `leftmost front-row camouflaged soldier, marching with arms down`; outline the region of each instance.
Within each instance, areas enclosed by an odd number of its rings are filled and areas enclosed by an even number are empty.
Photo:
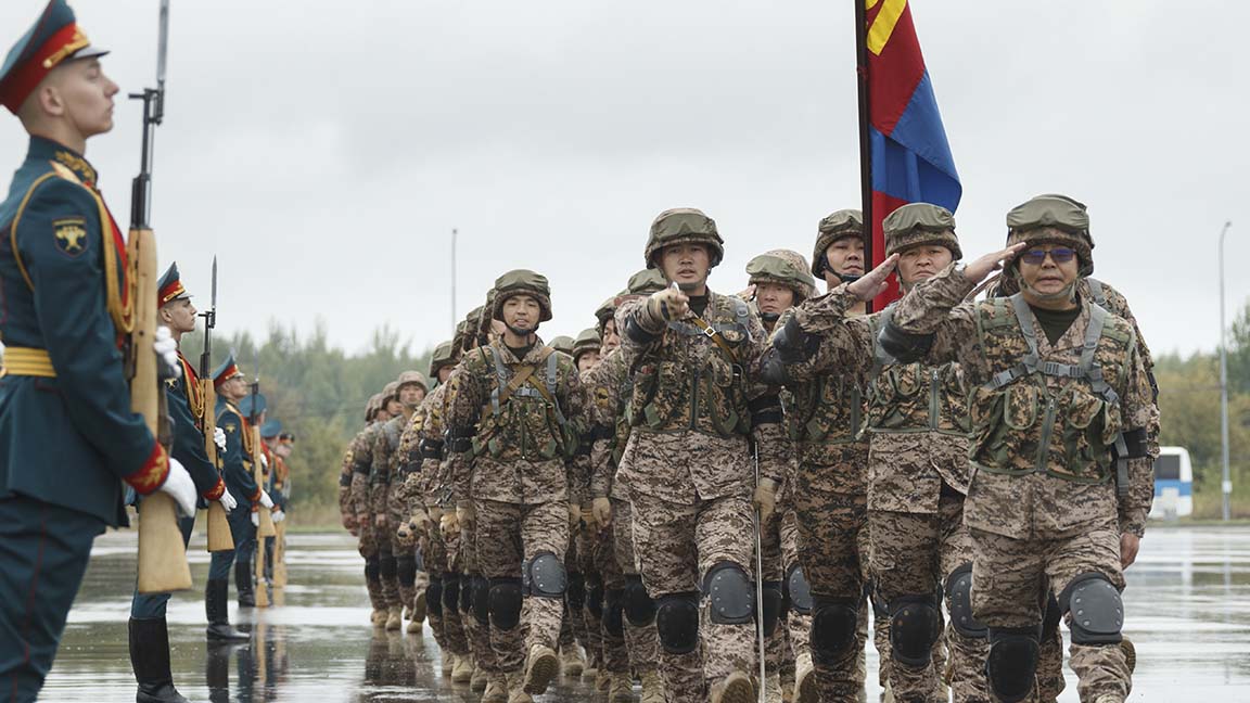
[[[456,494],[469,498],[456,505],[456,519],[476,528],[479,567],[490,579],[491,643],[510,700],[519,702],[544,693],[560,665],[565,458],[582,398],[572,360],[536,334],[551,319],[544,276],[524,269],[500,276],[490,318],[505,329],[460,362],[448,423],[458,439],[452,452],[464,454],[471,439],[472,463],[455,477]]]

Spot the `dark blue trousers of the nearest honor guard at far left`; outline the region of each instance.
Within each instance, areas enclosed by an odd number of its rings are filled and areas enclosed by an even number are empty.
[[[0,699],[39,695],[102,532],[104,523],[85,513],[0,498]]]

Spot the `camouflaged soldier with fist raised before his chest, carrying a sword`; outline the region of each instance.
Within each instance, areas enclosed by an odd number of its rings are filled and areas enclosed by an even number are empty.
[[[680,700],[710,689],[714,703],[754,698],[754,504],[768,519],[782,467],[760,462],[780,408],[751,404],[751,373],[766,339],[739,298],[708,288],[724,244],[695,209],[661,213],[645,259],[674,285],[621,306],[632,357],[634,424],[618,480],[630,492],[642,582],[658,602],[660,674]],[[768,428],[766,425],[772,425]],[[759,454],[771,454],[768,439]],[[700,657],[700,640],[702,657]]]

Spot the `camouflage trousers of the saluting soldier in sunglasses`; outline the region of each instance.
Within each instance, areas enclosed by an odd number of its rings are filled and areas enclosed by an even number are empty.
[[[1114,515],[1070,537],[1014,539],[974,529],[971,540],[972,613],[990,628],[1039,625],[1048,583],[1058,594],[1078,575],[1100,573],[1124,589],[1120,530]],[[1065,620],[1070,622],[1070,615]],[[1131,674],[1118,644],[1074,643],[1068,653],[1081,700],[1105,694],[1128,697]]]

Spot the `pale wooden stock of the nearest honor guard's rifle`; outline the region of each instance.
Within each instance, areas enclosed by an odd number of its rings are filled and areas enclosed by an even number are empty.
[[[130,409],[148,420],[159,435],[161,388],[156,375],[156,236],[150,229],[132,229],[126,241],[134,281],[135,329],[130,353],[135,377],[130,382]],[[145,495],[139,503],[139,593],[169,593],[191,588],[186,544],[178,528],[178,508],[165,493]]]

